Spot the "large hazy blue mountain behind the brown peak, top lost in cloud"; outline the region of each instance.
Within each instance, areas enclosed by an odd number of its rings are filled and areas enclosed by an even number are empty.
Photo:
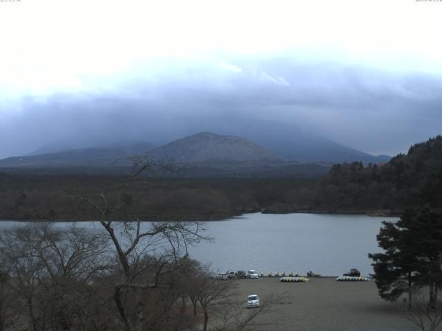
[[[117,125],[118,124],[118,125]],[[214,117],[210,121],[204,119],[180,119],[176,123],[155,123],[140,121],[124,126],[122,123],[100,128],[85,127],[76,132],[60,137],[45,146],[30,153],[48,154],[82,148],[108,148],[110,143],[119,141],[134,143],[135,141],[150,141],[156,146],[190,136],[195,132],[208,131],[227,136],[242,137],[253,141],[258,146],[288,161],[303,163],[319,162],[331,165],[333,163],[363,161],[363,163],[381,163],[390,157],[368,154],[345,146],[346,141],[336,143],[320,132],[314,132],[303,123],[281,123],[269,119],[253,117]],[[350,142],[349,142],[350,143]]]

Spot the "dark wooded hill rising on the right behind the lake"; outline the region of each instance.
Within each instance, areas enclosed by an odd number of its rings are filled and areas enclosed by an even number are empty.
[[[323,177],[312,207],[330,211],[400,213],[419,200],[427,178],[442,170],[442,137],[412,146],[390,162],[338,164]]]

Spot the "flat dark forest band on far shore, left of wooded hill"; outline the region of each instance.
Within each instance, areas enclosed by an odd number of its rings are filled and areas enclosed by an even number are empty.
[[[0,174],[2,219],[90,220],[97,212],[75,199],[100,190],[115,196],[127,177]],[[316,179],[171,179],[137,181],[124,194],[125,219],[222,219],[314,192]],[[290,198],[291,199],[291,198]]]

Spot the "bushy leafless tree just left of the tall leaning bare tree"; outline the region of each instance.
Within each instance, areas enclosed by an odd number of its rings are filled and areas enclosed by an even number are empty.
[[[63,231],[51,223],[32,224],[30,229],[27,245],[44,265],[39,284],[45,290],[48,321],[70,330],[75,319],[84,317],[86,287],[110,268],[107,239],[75,224]]]

